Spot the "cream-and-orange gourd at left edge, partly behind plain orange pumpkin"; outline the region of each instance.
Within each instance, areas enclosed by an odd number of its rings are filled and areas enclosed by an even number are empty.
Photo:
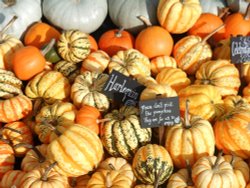
[[[11,70],[11,58],[16,50],[23,47],[20,40],[10,35],[1,34],[0,38],[0,68]]]

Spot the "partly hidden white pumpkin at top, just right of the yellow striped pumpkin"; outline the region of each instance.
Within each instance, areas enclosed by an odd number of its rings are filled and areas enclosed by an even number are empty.
[[[219,14],[219,9],[226,7],[225,0],[200,0],[200,4],[203,13],[209,12],[216,16]]]

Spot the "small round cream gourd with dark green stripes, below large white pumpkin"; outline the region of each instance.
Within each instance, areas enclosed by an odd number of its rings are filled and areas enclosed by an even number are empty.
[[[78,30],[64,31],[57,41],[60,56],[70,62],[79,63],[90,53],[88,34]]]

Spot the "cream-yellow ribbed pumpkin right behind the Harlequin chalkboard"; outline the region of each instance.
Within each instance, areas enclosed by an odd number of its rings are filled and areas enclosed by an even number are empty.
[[[109,73],[112,70],[121,72],[126,76],[150,76],[150,61],[141,52],[135,49],[119,51],[112,56],[109,65]]]

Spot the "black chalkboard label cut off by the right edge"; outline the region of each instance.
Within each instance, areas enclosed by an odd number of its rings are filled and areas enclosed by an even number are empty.
[[[250,61],[250,36],[231,37],[231,61],[234,64]]]

